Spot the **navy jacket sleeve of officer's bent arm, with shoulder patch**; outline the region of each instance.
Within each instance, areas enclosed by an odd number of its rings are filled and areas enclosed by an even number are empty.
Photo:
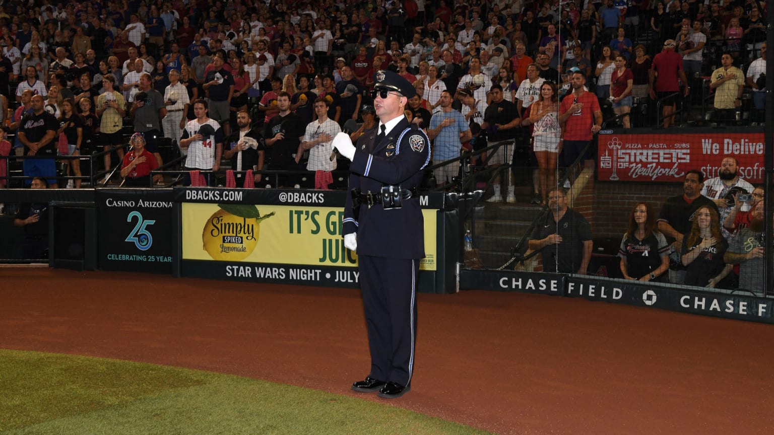
[[[396,156],[389,160],[355,149],[350,170],[385,184],[408,180],[430,159],[430,139],[417,129],[410,129],[400,139]]]

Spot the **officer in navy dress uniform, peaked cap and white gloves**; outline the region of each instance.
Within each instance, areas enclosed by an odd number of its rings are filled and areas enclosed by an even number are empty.
[[[339,133],[333,146],[352,161],[344,210],[344,245],[358,252],[371,372],[357,392],[396,399],[411,389],[416,338],[416,282],[425,256],[417,188],[430,161],[430,140],[403,115],[416,91],[388,70],[375,74],[378,125],[353,146]]]

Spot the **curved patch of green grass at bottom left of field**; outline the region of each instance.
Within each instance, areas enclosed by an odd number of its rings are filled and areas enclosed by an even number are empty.
[[[368,400],[251,378],[103,358],[5,350],[0,350],[0,432],[487,433]]]

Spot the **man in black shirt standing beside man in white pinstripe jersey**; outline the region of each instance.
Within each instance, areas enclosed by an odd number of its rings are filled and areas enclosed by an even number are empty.
[[[326,80],[333,82],[330,76],[326,76]],[[306,125],[300,122],[298,115],[290,111],[290,95],[287,92],[280,91],[277,95],[277,108],[279,113],[266,123],[263,133],[269,155],[269,169],[296,170],[298,164],[295,154]],[[280,186],[286,183],[287,180],[279,181]]]

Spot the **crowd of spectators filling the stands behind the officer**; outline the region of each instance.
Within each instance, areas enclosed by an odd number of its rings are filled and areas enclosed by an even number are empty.
[[[471,163],[534,169],[520,171],[533,173],[532,202],[553,207],[559,222],[567,207],[555,188],[557,163],[591,157],[605,120],[621,128],[686,118],[764,121],[764,16],[765,3],[756,0],[2,2],[0,156],[9,157],[0,158],[0,187],[9,185],[12,167],[22,168],[28,185],[39,177],[35,187],[84,186],[80,160],[57,164],[57,156],[94,152],[104,152],[102,183],[115,156],[116,179],[148,186],[163,181],[151,180],[151,171],[176,155],[165,152],[171,144],[184,158],[186,184],[214,185],[212,171],[230,169],[231,186],[276,180],[275,187],[292,187],[293,176],[270,179],[266,171],[307,170],[315,188],[328,189],[341,164],[331,140],[344,131],[354,141],[376,125],[374,77],[392,70],[416,88],[405,113],[433,140],[434,164],[495,146]],[[632,111],[648,116],[630,120]],[[447,187],[459,170],[459,163],[438,166],[428,178]],[[515,174],[498,171],[488,201],[514,203]],[[752,221],[759,207],[735,202],[731,185],[700,175],[689,173],[685,197],[689,184],[704,183],[717,188],[701,192],[716,202],[694,210],[702,218],[693,227],[665,217],[670,210],[683,217],[677,199],[658,224],[647,204],[632,210],[622,241],[625,277],[687,270],[693,278],[673,283],[700,278],[709,281],[697,285],[717,286],[732,276],[731,264],[744,265],[734,256],[730,231],[741,232],[731,216],[744,206]],[[560,245],[557,237],[536,234],[533,248]],[[571,237],[579,257],[553,257],[557,271],[565,260],[567,271],[587,267],[584,237],[591,234]],[[658,252],[647,270],[626,256],[642,252],[646,239]],[[728,265],[690,272],[704,264],[698,252],[716,247],[714,259]],[[659,263],[669,255],[671,262]]]

